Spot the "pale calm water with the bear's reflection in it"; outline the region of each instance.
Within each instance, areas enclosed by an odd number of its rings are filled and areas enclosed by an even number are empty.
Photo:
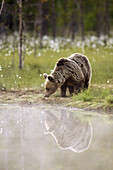
[[[112,170],[113,116],[0,105],[0,170]]]

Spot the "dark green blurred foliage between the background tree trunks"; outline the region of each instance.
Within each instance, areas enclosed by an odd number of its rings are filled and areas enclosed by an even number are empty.
[[[74,27],[74,33],[79,33],[81,30],[80,26],[80,16],[81,16],[81,6],[83,6],[84,11],[84,25],[85,31],[98,30],[97,28],[97,16],[99,16],[100,31],[104,33],[106,29],[106,17],[109,20],[111,28],[113,26],[113,3],[112,0],[86,0],[86,1],[68,1],[68,0],[42,0],[42,1],[26,1],[23,0],[23,28],[26,30],[34,31],[36,22],[40,23],[40,10],[39,3],[42,2],[43,11],[43,34],[51,34],[52,29],[52,2],[55,5],[55,22],[57,35],[68,35],[71,33],[71,26]],[[108,3],[108,10],[106,10],[106,2]],[[12,10],[14,9],[14,10]],[[106,11],[108,13],[106,13]],[[73,20],[73,22],[72,22]],[[18,14],[18,4],[17,1],[7,0],[4,4],[3,14],[0,16],[0,25],[3,26],[2,30],[8,31],[18,30],[19,14]],[[107,25],[108,26],[108,25]],[[109,26],[108,26],[109,27]],[[37,30],[39,30],[39,25],[37,25]]]

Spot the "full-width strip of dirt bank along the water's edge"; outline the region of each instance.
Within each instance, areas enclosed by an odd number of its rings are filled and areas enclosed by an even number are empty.
[[[86,110],[94,110],[101,113],[113,113],[113,105],[106,105],[105,103],[93,102],[83,102],[75,101],[72,97],[68,96],[66,98],[60,97],[58,95],[52,95],[49,98],[44,97],[43,90],[1,90],[0,91],[0,103],[1,104],[19,104],[21,106],[27,105],[60,105],[68,107],[76,107]]]

